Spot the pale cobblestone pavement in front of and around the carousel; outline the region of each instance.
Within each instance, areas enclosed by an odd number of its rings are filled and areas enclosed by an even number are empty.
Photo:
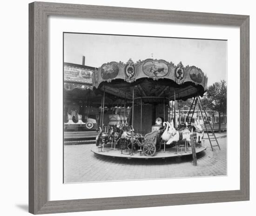
[[[224,134],[225,135],[225,134]],[[223,134],[216,134],[221,150],[205,138],[207,149],[197,154],[167,159],[126,159],[95,155],[94,145],[64,146],[64,182],[94,182],[152,178],[219,176],[227,173],[227,145]],[[214,142],[215,145],[216,142]]]

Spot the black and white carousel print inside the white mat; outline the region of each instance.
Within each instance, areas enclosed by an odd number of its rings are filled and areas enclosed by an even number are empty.
[[[63,33],[63,182],[227,175],[227,40]]]

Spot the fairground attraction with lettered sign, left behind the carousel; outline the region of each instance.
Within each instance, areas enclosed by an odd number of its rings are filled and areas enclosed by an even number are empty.
[[[94,67],[64,63],[64,130],[96,129],[98,108],[89,104]]]

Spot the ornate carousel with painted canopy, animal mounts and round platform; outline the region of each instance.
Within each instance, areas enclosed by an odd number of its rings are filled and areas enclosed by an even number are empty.
[[[94,92],[102,98],[98,136],[91,151],[128,159],[168,158],[192,154],[191,142],[195,153],[204,151],[199,121],[182,122],[175,103],[194,98],[188,112],[192,118],[187,118],[193,119],[195,106],[203,109],[200,97],[207,81],[201,69],[183,67],[181,62],[129,59],[126,64],[103,64],[93,73]]]

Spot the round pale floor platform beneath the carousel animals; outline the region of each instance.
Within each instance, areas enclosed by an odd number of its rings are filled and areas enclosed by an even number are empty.
[[[206,150],[205,146],[195,148],[196,154],[204,150]],[[140,153],[138,151],[133,152],[133,155],[129,154],[129,151],[126,151],[126,150],[123,150],[123,153],[121,153],[121,150],[119,148],[116,148],[114,150],[114,148],[111,149],[111,147],[105,147],[103,152],[103,148],[101,149],[100,147],[94,146],[94,148],[92,148],[91,151],[97,155],[104,155],[104,156],[113,157],[113,158],[115,157],[127,158],[127,159],[133,159],[133,158],[135,159],[159,159],[159,158],[166,159],[166,158],[192,155],[192,150],[190,146],[186,149],[186,152],[184,147],[182,148],[179,147],[178,152],[176,152],[175,147],[167,148],[165,152],[163,149],[161,149],[161,151],[155,152],[155,155],[152,157],[148,157],[144,155],[143,152]]]

